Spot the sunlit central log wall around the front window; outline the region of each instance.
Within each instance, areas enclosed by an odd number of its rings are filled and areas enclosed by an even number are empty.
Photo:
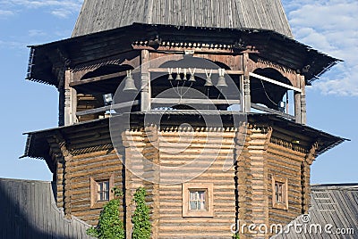
[[[209,169],[188,183],[214,185],[213,218],[183,218],[182,185],[159,185],[159,238],[230,238],[230,226],[235,218],[234,167],[227,171],[223,167],[226,159],[234,159],[234,136],[234,131],[159,132],[161,165],[178,167],[196,158],[195,164],[187,169],[200,170],[208,161],[213,161]],[[188,173],[185,170],[181,175],[163,171],[160,177],[177,180]]]

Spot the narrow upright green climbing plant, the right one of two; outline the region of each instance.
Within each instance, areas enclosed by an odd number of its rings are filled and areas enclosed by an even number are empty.
[[[149,206],[145,202],[147,192],[140,187],[134,194],[133,201],[136,208],[132,215],[132,239],[149,239],[151,233],[151,224],[149,221]]]

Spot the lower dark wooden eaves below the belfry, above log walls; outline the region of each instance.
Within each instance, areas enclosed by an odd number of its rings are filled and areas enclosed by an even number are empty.
[[[147,117],[146,120],[149,120],[149,118],[153,115],[155,119],[158,118],[155,117],[155,114],[162,114],[162,111],[151,111],[149,113],[143,114],[142,112],[133,112],[131,115],[131,122],[134,126],[141,126],[142,122],[144,122],[144,116]],[[239,117],[244,116],[243,114],[240,114],[238,112],[232,112],[232,111],[215,111],[215,112],[202,112],[201,114],[206,115],[214,115],[217,117],[217,113],[220,113],[223,122],[228,122],[227,124],[232,124],[233,117]],[[187,113],[184,111],[166,111],[166,114],[170,117],[168,117],[168,120],[166,124],[177,124],[178,122],[189,122],[191,124],[198,123],[198,112],[191,112]],[[117,116],[121,117],[121,116]],[[125,117],[125,116],[124,116]],[[163,117],[162,119],[164,119]],[[169,120],[170,119],[170,120]],[[279,117],[277,115],[273,114],[260,114],[260,113],[251,113],[247,115],[247,119],[252,124],[267,124],[272,125],[274,128],[290,128],[290,131],[293,132],[293,139],[297,139],[296,136],[304,135],[305,138],[309,138],[310,140],[304,143],[302,140],[301,144],[307,144],[305,146],[310,147],[310,144],[313,144],[314,142],[319,143],[318,148],[318,155],[320,153],[328,151],[330,148],[333,148],[337,146],[337,144],[341,144],[345,141],[344,138],[338,137],[338,136],[332,136],[328,133],[325,133],[323,131],[310,128],[307,126],[303,126],[301,124],[296,124],[293,121],[290,121],[288,119],[284,119],[282,117]],[[199,122],[200,124],[200,122]],[[232,127],[231,125],[228,125],[228,127]],[[101,140],[96,139],[96,132],[101,132]],[[93,140],[90,143],[81,144],[78,141],[74,140],[76,143],[72,143],[72,138],[76,138],[76,134],[84,133],[84,132],[90,132],[90,134],[93,134]],[[86,134],[87,134],[86,133]],[[92,121],[86,121],[79,124],[75,124],[68,127],[60,127],[60,128],[52,128],[47,130],[41,130],[37,132],[30,132],[27,133],[28,140],[25,148],[25,153],[22,157],[30,157],[30,158],[37,158],[47,161],[47,165],[50,169],[52,169],[54,166],[54,163],[51,161],[51,158],[49,158],[48,152],[49,152],[49,145],[47,143],[47,139],[51,138],[57,134],[60,134],[64,136],[67,139],[67,147],[68,150],[72,153],[81,152],[81,150],[94,150],[96,151],[98,148],[104,147],[104,149],[107,149],[107,147],[112,147],[112,141],[111,136],[109,132],[109,120],[108,119],[95,119]],[[295,135],[295,136],[294,136]],[[90,137],[90,135],[89,135]]]

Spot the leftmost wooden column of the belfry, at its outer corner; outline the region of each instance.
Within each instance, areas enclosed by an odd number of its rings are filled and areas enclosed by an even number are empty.
[[[70,87],[73,81],[71,70],[64,71],[64,126],[70,126],[76,122],[77,93]]]

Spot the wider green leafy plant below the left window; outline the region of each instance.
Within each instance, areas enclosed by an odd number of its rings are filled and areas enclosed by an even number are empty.
[[[119,215],[121,200],[118,198],[123,194],[118,188],[113,188],[112,192],[115,194],[115,199],[107,202],[106,206],[100,213],[98,226],[87,229],[87,235],[91,235],[99,239],[125,238],[124,223],[120,219]]]

